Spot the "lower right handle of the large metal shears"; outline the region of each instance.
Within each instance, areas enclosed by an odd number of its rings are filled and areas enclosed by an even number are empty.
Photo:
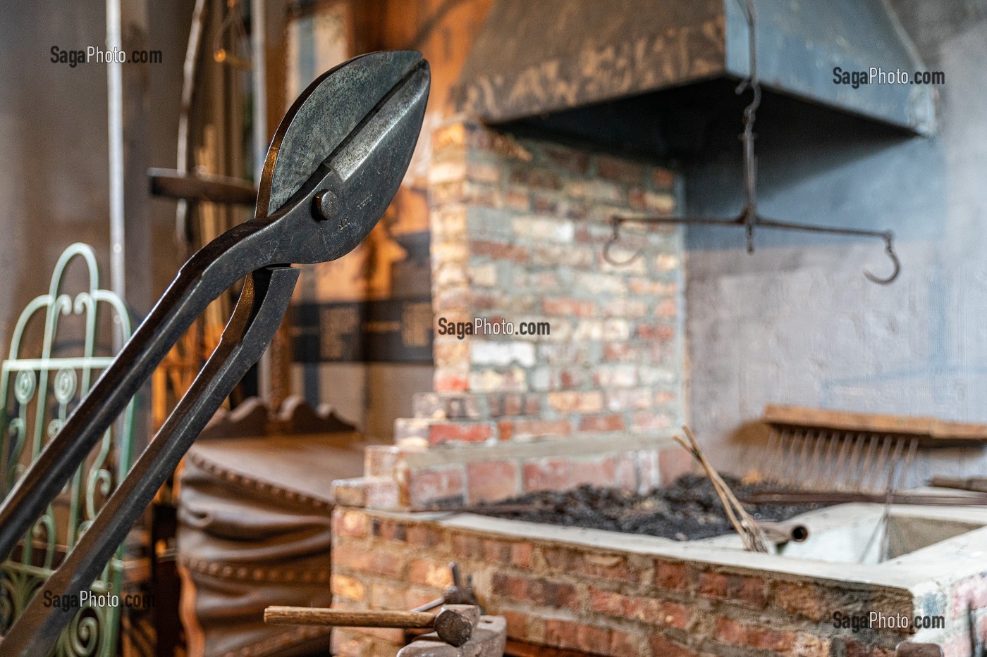
[[[219,344],[189,391],[39,591],[78,600],[103,571],[216,408],[261,358],[287,310],[298,274],[290,266],[269,267],[248,278]],[[45,607],[44,597],[36,594],[0,641],[0,655],[46,654],[73,616],[64,609]]]

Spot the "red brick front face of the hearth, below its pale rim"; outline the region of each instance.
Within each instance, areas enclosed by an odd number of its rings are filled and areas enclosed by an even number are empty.
[[[855,633],[833,610],[946,614],[949,657],[969,657],[967,608],[987,607],[987,578],[945,596],[817,579],[753,567],[507,536],[340,509],[334,514],[334,606],[410,609],[438,597],[448,563],[473,575],[510,638],[593,655],[654,657],[892,657],[906,631]],[[941,599],[942,598],[942,599]],[[982,611],[975,621],[983,622]],[[982,633],[982,628],[980,628]],[[340,629],[334,653],[394,654],[401,630]]]

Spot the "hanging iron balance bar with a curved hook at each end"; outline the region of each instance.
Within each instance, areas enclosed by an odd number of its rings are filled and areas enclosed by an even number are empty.
[[[618,260],[611,251],[620,242],[620,227],[624,222],[647,224],[676,224],[676,225],[706,225],[706,226],[736,226],[742,227],[746,233],[747,253],[754,253],[754,230],[770,228],[775,230],[800,231],[807,233],[825,233],[828,235],[844,235],[856,237],[880,238],[884,241],[884,253],[891,260],[891,273],[887,277],[875,276],[870,271],[864,271],[868,280],[880,285],[894,281],[901,272],[901,261],[894,252],[894,234],[891,231],[868,230],[861,228],[840,228],[837,226],[813,226],[795,222],[778,221],[760,215],[757,211],[757,156],[754,153],[754,122],[757,120],[757,109],[761,105],[761,84],[757,76],[757,49],[754,38],[754,3],[753,0],[738,0],[743,10],[748,27],[748,48],[750,57],[750,74],[737,85],[735,92],[742,94],[747,89],[752,92],[751,102],[743,110],[743,132],[740,141],[743,143],[743,180],[745,203],[739,215],[732,218],[717,219],[711,217],[664,217],[654,215],[630,216],[613,215],[610,217],[613,235],[603,246],[603,258],[614,266],[627,266],[642,255],[639,249],[630,257]]]

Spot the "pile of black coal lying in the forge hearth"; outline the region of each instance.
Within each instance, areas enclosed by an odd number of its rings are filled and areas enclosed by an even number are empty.
[[[764,490],[765,484],[741,484],[729,475],[723,479],[739,498]],[[756,520],[783,521],[824,504],[746,504]],[[676,541],[708,539],[730,534],[720,498],[706,476],[684,474],[671,485],[634,493],[618,488],[582,485],[565,491],[540,490],[471,507],[470,512],[497,518],[548,525],[645,534]]]

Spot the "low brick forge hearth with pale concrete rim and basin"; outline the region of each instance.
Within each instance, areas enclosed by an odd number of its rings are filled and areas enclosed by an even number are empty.
[[[797,516],[803,544],[746,552],[736,535],[679,542],[474,514],[334,514],[334,606],[411,608],[449,584],[448,562],[474,578],[511,642],[586,655],[890,657],[904,640],[980,655],[987,625],[987,511],[828,507]],[[877,547],[885,548],[878,562]],[[835,613],[942,617],[921,629],[837,627]],[[394,654],[400,630],[342,629],[334,652]],[[530,650],[530,648],[527,648]],[[566,653],[571,654],[571,653]]]

